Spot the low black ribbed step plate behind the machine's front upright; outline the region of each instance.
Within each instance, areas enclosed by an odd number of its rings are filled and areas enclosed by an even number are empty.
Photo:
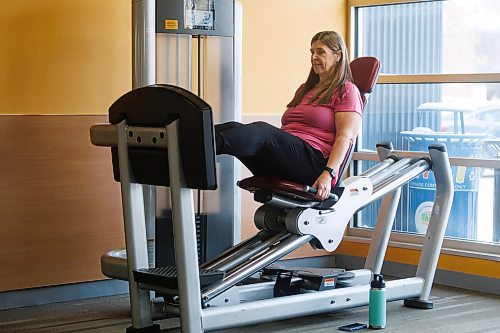
[[[201,287],[208,286],[224,278],[224,272],[217,270],[200,270]],[[177,269],[175,266],[143,268],[134,271],[134,279],[139,283],[177,289]]]

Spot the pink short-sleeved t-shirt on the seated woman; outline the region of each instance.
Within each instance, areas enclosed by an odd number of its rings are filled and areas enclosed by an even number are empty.
[[[335,113],[355,112],[361,116],[363,101],[358,88],[349,81],[345,83],[343,98],[340,98],[337,90],[328,104],[310,104],[309,100],[314,93],[309,91],[299,105],[285,111],[281,117],[281,129],[298,136],[328,158],[337,133]]]

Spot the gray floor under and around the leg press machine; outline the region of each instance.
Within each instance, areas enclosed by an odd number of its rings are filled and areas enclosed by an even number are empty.
[[[435,286],[432,300],[432,310],[406,308],[401,301],[389,303],[387,327],[382,332],[500,333],[499,296]],[[341,325],[367,321],[368,308],[361,307],[219,332],[340,332]],[[166,332],[180,332],[177,319],[159,323]],[[0,332],[124,333],[128,326],[125,295],[0,311]]]

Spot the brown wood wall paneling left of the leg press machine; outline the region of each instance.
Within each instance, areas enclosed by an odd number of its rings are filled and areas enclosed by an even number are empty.
[[[109,149],[90,143],[106,116],[0,115],[0,291],[103,279],[124,244]]]

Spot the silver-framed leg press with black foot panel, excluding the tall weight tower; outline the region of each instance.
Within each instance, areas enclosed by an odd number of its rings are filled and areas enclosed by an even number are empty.
[[[381,271],[401,186],[427,170],[436,199],[414,277],[387,281],[387,300],[431,308],[430,291],[453,200],[444,145],[428,153],[377,146],[380,162],[334,188],[318,202],[307,186],[251,177],[239,186],[254,192],[261,230],[218,257],[198,265],[193,189],[217,187],[211,109],[182,88],[135,89],[110,108],[109,124],[94,125],[94,145],[111,147],[114,177],[121,183],[126,250],[102,258],[103,273],[129,282],[132,326],[158,332],[150,291],[165,296],[164,308],[180,314],[182,332],[204,332],[307,316],[368,304],[369,284]],[[149,267],[142,184],[169,186],[176,266]],[[381,199],[363,269],[285,269],[273,265],[304,244],[334,251],[351,217]],[[148,212],[146,212],[148,213]]]

